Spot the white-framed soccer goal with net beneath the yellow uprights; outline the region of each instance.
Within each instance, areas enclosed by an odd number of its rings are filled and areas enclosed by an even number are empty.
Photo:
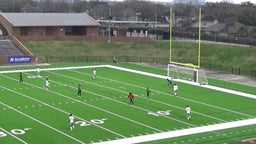
[[[183,79],[197,82],[200,84],[208,84],[206,74],[203,69],[195,67],[179,66],[168,64],[167,76],[173,79]]]

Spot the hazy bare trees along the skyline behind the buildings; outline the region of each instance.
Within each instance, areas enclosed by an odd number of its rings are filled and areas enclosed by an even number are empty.
[[[161,21],[163,16],[170,16],[170,7],[175,14],[187,17],[197,16],[198,8],[203,15],[214,15],[219,22],[234,19],[242,27],[240,36],[256,38],[256,6],[240,5],[228,2],[206,3],[204,5],[175,4],[164,5],[142,0],[125,0],[123,2],[106,2],[100,0],[0,0],[2,12],[86,12],[95,19],[129,20],[138,16],[142,21]],[[191,21],[187,21],[190,25]]]

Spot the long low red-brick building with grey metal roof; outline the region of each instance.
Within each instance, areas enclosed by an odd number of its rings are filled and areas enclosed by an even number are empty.
[[[88,39],[99,26],[86,13],[0,13],[2,35],[19,40]]]

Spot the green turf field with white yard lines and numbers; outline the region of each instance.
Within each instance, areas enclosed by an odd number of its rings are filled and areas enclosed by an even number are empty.
[[[256,137],[256,95],[243,92],[245,86],[239,92],[174,80],[179,86],[174,96],[165,75],[131,67],[40,67],[40,77],[36,68],[16,69],[20,70],[0,71],[1,144],[224,144]],[[135,95],[134,105],[129,105],[129,92]],[[192,109],[190,120],[187,105]]]

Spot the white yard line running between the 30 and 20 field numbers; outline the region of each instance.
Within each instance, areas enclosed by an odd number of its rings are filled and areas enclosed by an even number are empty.
[[[3,89],[5,89],[5,88],[2,87],[2,86],[0,86],[0,87],[3,88]],[[33,121],[36,121],[36,122],[38,122],[38,123],[40,123],[40,124],[42,124],[42,125],[44,125],[44,126],[50,128],[50,129],[52,129],[52,130],[54,130],[54,131],[56,131],[56,132],[58,132],[58,133],[60,133],[60,134],[62,134],[62,135],[64,135],[64,136],[70,138],[70,139],[73,139],[74,141],[76,141],[76,142],[78,142],[78,143],[84,144],[84,142],[82,142],[82,141],[80,141],[80,140],[78,140],[78,139],[76,139],[76,138],[74,138],[74,137],[72,137],[72,136],[70,136],[70,135],[68,135],[68,134],[66,134],[66,133],[64,133],[64,132],[62,132],[62,131],[60,131],[60,130],[58,130],[58,129],[56,129],[56,128],[54,128],[54,127],[52,127],[52,126],[50,126],[50,125],[48,125],[48,124],[46,124],[46,123],[44,123],[44,122],[42,122],[42,121],[40,121],[40,120],[38,120],[38,119],[36,119],[36,118],[33,118],[32,116],[27,115],[27,114],[25,114],[25,113],[23,113],[23,112],[21,112],[21,111],[15,109],[15,108],[13,108],[13,107],[7,105],[7,104],[5,104],[5,103],[0,102],[0,104],[6,106],[6,107],[8,107],[8,108],[10,108],[11,110],[13,110],[13,111],[15,111],[15,112],[17,112],[17,113],[19,113],[19,114],[21,114],[21,115],[23,115],[23,116],[29,118],[29,119],[32,119]]]

